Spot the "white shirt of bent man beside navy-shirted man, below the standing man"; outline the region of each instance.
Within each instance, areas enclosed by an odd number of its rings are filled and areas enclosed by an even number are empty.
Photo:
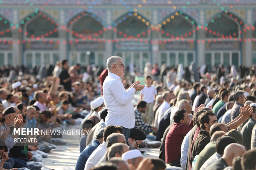
[[[90,170],[94,165],[99,163],[102,156],[104,156],[105,152],[107,151],[106,142],[103,141],[102,144],[100,144],[97,149],[95,149],[92,154],[89,156],[88,160],[85,163],[85,169],[84,170]]]

